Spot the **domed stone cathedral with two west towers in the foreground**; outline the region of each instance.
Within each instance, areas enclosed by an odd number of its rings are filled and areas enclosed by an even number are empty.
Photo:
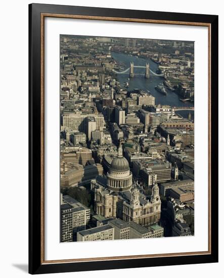
[[[135,221],[143,226],[158,222],[161,200],[157,183],[153,185],[150,199],[141,193],[142,189],[132,183],[132,173],[121,145],[118,155],[111,163],[107,177],[97,176],[92,180],[95,192],[95,213],[107,217],[117,217],[125,222]]]

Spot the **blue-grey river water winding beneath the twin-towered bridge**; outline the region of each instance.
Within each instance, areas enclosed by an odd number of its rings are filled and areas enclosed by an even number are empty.
[[[134,66],[145,66],[146,63],[149,63],[150,65],[150,69],[153,72],[156,72],[156,70],[158,69],[158,65],[153,62],[150,59],[146,59],[146,58],[138,58],[135,56],[128,56],[126,54],[123,53],[115,53],[112,52],[112,57],[119,62],[122,62],[123,64],[125,64],[125,69],[130,67],[130,62],[134,63]],[[129,83],[129,90],[138,88],[138,89],[142,89],[146,92],[150,92],[154,97],[155,97],[155,104],[162,104],[162,105],[170,105],[170,106],[175,106],[175,107],[180,107],[180,106],[194,106],[194,103],[189,103],[189,102],[181,102],[179,100],[178,95],[175,92],[171,92],[169,89],[166,89],[167,95],[164,96],[163,94],[161,94],[160,92],[158,92],[155,89],[155,86],[158,85],[159,83],[162,83],[164,78],[161,76],[156,76],[153,75],[150,72],[150,78],[146,79],[144,77],[144,75],[138,75],[138,74],[145,74],[145,69],[144,68],[134,68],[134,73],[136,73],[137,75],[133,78],[130,78],[129,80],[127,80],[127,78],[129,78],[129,72],[125,73],[125,74],[117,74],[117,80],[120,82],[121,87],[124,87],[124,82],[128,82]],[[178,111],[178,114],[182,115],[184,118],[186,118],[188,116],[188,111]],[[194,111],[191,111],[192,114],[192,119],[194,119]]]

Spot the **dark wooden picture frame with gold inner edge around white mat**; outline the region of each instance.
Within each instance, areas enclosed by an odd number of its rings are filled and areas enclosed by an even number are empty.
[[[209,211],[206,252],[75,260],[44,259],[44,18],[125,21],[208,28]],[[218,16],[61,5],[29,5],[29,273],[133,268],[218,261]]]

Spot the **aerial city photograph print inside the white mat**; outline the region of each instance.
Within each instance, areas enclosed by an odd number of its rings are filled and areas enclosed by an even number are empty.
[[[61,242],[194,236],[194,41],[60,35]]]

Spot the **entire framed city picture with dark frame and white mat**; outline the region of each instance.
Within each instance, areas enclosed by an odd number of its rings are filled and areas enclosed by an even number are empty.
[[[29,273],[217,262],[217,156],[218,16],[29,5]]]

